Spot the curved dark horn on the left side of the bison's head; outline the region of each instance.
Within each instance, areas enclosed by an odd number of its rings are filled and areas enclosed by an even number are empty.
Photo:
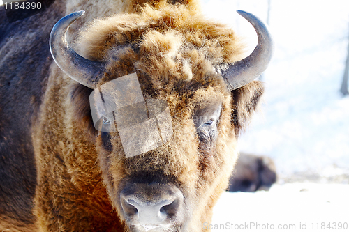
[[[82,15],[84,10],[71,13],[54,25],[50,35],[50,51],[54,61],[66,75],[84,86],[96,88],[99,79],[103,77],[105,64],[84,59],[66,41],[66,31],[70,24]]]

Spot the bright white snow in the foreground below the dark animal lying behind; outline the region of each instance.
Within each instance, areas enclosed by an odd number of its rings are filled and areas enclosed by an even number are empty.
[[[212,222],[202,228],[212,232],[349,231],[348,196],[349,185],[314,183],[274,185],[269,192],[225,192],[214,207]]]

